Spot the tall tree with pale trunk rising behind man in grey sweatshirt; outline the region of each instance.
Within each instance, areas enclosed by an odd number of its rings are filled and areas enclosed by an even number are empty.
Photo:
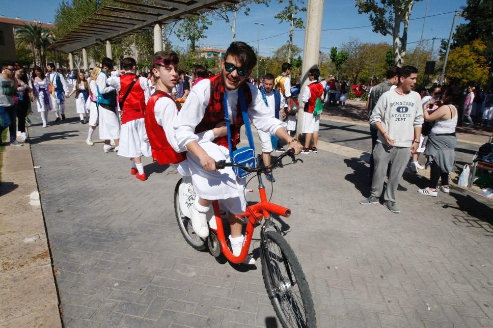
[[[373,32],[392,35],[394,65],[402,66],[407,46],[407,26],[414,2],[421,0],[356,0],[360,14],[370,14]],[[402,36],[400,35],[402,26]]]

